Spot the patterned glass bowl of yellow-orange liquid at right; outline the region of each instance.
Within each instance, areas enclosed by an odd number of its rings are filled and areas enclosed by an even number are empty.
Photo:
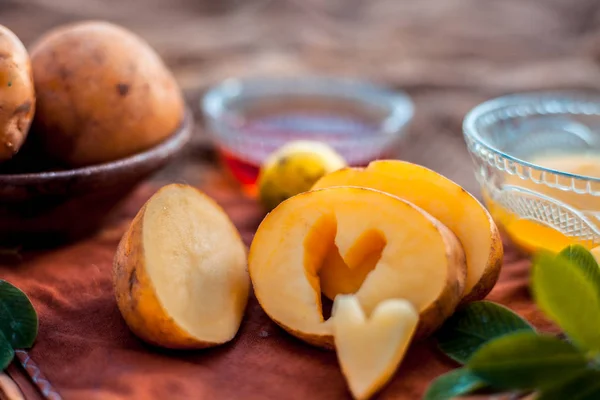
[[[600,244],[600,94],[538,92],[496,98],[463,132],[483,199],[526,252]]]

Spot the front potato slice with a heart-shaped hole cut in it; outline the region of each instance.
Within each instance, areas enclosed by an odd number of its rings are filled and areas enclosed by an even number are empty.
[[[349,270],[364,263],[374,267],[355,293],[367,315],[384,300],[406,299],[420,313],[418,336],[452,314],[464,288],[460,243],[414,205],[357,187],[296,195],[262,221],[250,247],[249,271],[271,319],[315,345],[333,347],[319,277],[331,252],[338,252]],[[370,262],[377,252],[377,262]]]

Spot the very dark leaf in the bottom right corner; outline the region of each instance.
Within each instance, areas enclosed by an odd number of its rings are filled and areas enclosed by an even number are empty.
[[[587,369],[539,393],[536,400],[600,399],[600,371]]]

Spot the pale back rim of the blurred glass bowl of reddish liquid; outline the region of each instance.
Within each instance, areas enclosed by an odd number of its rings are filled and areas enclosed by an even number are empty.
[[[382,107],[385,115],[377,123],[378,135],[402,135],[403,128],[415,114],[415,105],[408,93],[371,81],[326,75],[248,76],[227,78],[208,88],[200,100],[205,118],[213,123],[225,124],[227,128],[233,128],[224,121],[223,115],[232,100],[244,98],[244,90],[248,88],[265,89],[268,95],[327,96]],[[231,131],[218,130],[212,134],[227,136]]]

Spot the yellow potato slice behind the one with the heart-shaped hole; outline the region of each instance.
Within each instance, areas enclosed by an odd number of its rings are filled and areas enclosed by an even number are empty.
[[[411,203],[446,225],[460,240],[467,258],[463,303],[480,300],[492,290],[502,265],[502,240],[492,217],[471,194],[450,179],[423,166],[405,161],[381,160],[366,168],[345,168],[321,178],[313,189],[361,186],[381,190]],[[325,294],[347,293],[340,274],[327,277]]]

